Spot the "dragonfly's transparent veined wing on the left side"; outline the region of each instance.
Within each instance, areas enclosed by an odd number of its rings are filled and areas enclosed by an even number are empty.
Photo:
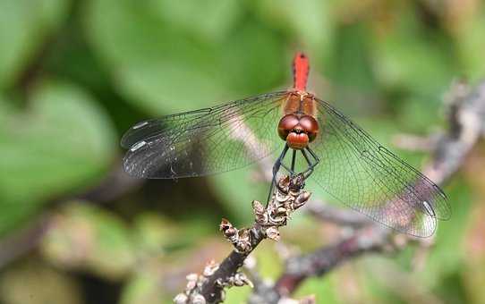
[[[223,173],[268,156],[283,141],[277,123],[286,91],[139,122],[124,134],[124,170],[136,177]]]

